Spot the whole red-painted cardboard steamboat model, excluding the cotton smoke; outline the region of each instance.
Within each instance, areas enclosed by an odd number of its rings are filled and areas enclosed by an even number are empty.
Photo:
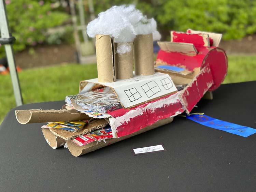
[[[109,99],[103,92],[102,98],[96,100],[95,111],[90,108],[95,97],[81,104],[76,95],[68,97],[65,109],[16,110],[16,118],[21,124],[89,121],[76,132],[53,127],[42,129],[53,149],[66,143],[76,157],[170,123],[174,116],[184,111],[190,113],[202,97],[212,99],[212,91],[223,82],[227,56],[218,48],[221,37],[190,29],[186,33],[171,31],[170,42],[158,42],[160,51],[154,62],[152,34],[137,35],[129,43],[133,50],[122,55],[115,52],[118,44],[110,35],[97,35],[98,78],[81,81],[79,95],[85,97],[94,90],[108,89],[114,93],[111,96],[114,104],[106,102],[108,107],[99,106]],[[96,137],[88,142],[91,139],[88,133],[107,125],[111,138]],[[86,144],[82,145],[81,140]]]

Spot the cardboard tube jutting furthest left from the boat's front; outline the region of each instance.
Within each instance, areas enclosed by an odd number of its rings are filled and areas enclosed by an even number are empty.
[[[43,123],[43,122],[55,122],[55,121],[78,121],[91,119],[85,113],[78,112],[75,109],[66,110],[16,110],[16,119],[21,124],[26,123]]]

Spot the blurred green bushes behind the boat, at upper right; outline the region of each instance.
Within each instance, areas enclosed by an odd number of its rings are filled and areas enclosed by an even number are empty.
[[[223,33],[225,40],[256,32],[255,0],[94,0],[95,13],[130,3],[154,17],[164,36],[188,28]]]

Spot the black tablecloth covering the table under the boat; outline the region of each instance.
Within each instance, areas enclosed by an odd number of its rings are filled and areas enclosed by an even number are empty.
[[[226,84],[196,112],[256,128],[256,82]],[[15,109],[60,109],[63,101]],[[1,106],[3,107],[3,106]],[[0,191],[255,191],[256,134],[247,138],[182,117],[122,142],[73,157],[52,149],[44,123],[21,125],[12,109],[0,126]],[[167,151],[133,156],[132,148]]]

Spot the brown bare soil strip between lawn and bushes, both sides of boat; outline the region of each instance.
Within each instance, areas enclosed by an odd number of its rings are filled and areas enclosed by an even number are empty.
[[[242,40],[222,41],[220,47],[227,54],[256,54],[256,35],[247,36]],[[31,54],[29,48],[16,53],[16,64],[22,69],[56,65],[61,63],[75,63],[75,46],[68,44],[43,45],[33,47]]]

